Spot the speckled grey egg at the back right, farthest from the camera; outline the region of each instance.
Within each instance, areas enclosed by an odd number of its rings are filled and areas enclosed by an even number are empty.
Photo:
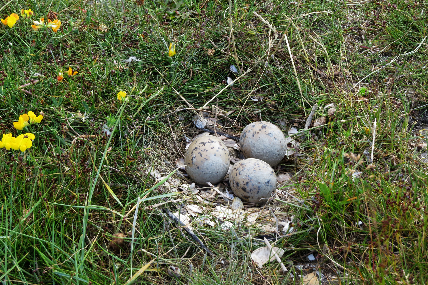
[[[269,122],[254,122],[244,128],[239,140],[245,158],[258,158],[270,166],[278,164],[287,153],[282,131]]]

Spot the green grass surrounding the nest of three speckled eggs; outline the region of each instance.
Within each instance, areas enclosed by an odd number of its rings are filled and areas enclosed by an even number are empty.
[[[428,166],[420,158],[426,149],[417,148],[427,142],[419,130],[428,128],[426,1],[12,0],[0,13],[28,8],[35,19],[58,12],[62,29],[33,31],[23,18],[0,27],[0,134],[20,134],[12,123],[23,113],[45,114],[28,127],[36,135],[30,150],[0,149],[3,284],[125,284],[153,258],[135,283],[299,284],[297,275],[312,271],[299,265],[308,263],[340,279],[331,284],[428,282]],[[276,39],[254,12],[275,27]],[[285,31],[297,78],[285,39],[279,44]],[[140,61],[122,63],[130,56]],[[227,77],[237,78],[231,64],[252,70],[220,92]],[[68,66],[78,73],[69,77]],[[26,87],[31,94],[17,90],[35,73],[43,78]],[[119,90],[131,95],[123,106]],[[231,134],[261,119],[303,129],[314,104],[315,118],[337,106],[322,130],[302,131],[298,155],[276,168],[293,175],[294,195],[307,206],[272,203],[298,222],[276,242],[288,248],[287,273],[276,262],[252,264],[251,252],[264,246],[255,237],[265,234],[254,226],[193,223],[210,256],[151,207],[180,208],[172,201],[183,194],[153,187],[147,172],[175,169],[185,137],[201,132],[185,108],[199,109],[219,92],[205,111],[227,114]],[[137,206],[134,220],[137,198],[146,195],[153,199]],[[198,203],[187,197],[182,203]],[[132,252],[131,238],[121,252],[107,249],[134,222]],[[307,261],[310,253],[319,258]],[[181,279],[167,275],[169,265],[181,267]]]

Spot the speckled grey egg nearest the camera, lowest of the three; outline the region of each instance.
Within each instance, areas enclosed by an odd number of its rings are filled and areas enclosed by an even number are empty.
[[[229,173],[230,187],[245,202],[265,204],[276,189],[276,175],[263,160],[247,158],[238,161]]]

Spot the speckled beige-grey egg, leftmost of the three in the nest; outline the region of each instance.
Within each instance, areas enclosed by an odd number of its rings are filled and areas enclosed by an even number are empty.
[[[222,181],[229,170],[229,164],[226,145],[214,136],[202,136],[193,140],[184,157],[187,174],[200,185]]]

